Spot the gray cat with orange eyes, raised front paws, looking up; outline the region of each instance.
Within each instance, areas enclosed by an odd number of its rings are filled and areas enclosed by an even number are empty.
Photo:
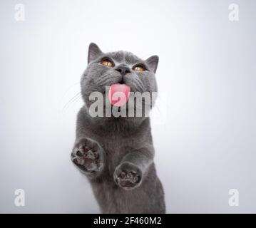
[[[81,78],[85,105],[78,112],[71,160],[88,177],[103,213],[165,213],[150,119],[93,118],[89,113],[90,94],[106,96],[106,86],[114,83],[128,85],[131,92],[156,92],[157,66],[158,56],[143,61],[133,53],[103,53],[95,43],[89,46],[88,67]]]

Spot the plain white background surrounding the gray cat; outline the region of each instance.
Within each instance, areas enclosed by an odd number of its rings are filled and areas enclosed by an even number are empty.
[[[0,212],[99,212],[69,160],[92,41],[160,56],[153,140],[167,212],[256,212],[256,4],[235,1],[231,22],[232,3],[1,0]]]

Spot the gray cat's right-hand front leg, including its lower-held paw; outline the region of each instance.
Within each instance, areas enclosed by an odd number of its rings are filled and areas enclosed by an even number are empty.
[[[143,182],[143,176],[152,162],[152,150],[129,152],[116,167],[114,181],[124,190],[133,190]]]

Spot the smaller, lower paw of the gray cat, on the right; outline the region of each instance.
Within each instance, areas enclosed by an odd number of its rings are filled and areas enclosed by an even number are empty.
[[[140,168],[130,162],[123,162],[116,167],[114,180],[124,190],[133,190],[141,183],[142,172]]]

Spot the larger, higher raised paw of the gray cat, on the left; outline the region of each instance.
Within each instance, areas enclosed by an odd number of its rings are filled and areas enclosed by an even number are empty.
[[[83,138],[73,147],[71,160],[82,172],[93,174],[103,169],[104,151],[98,142]]]

